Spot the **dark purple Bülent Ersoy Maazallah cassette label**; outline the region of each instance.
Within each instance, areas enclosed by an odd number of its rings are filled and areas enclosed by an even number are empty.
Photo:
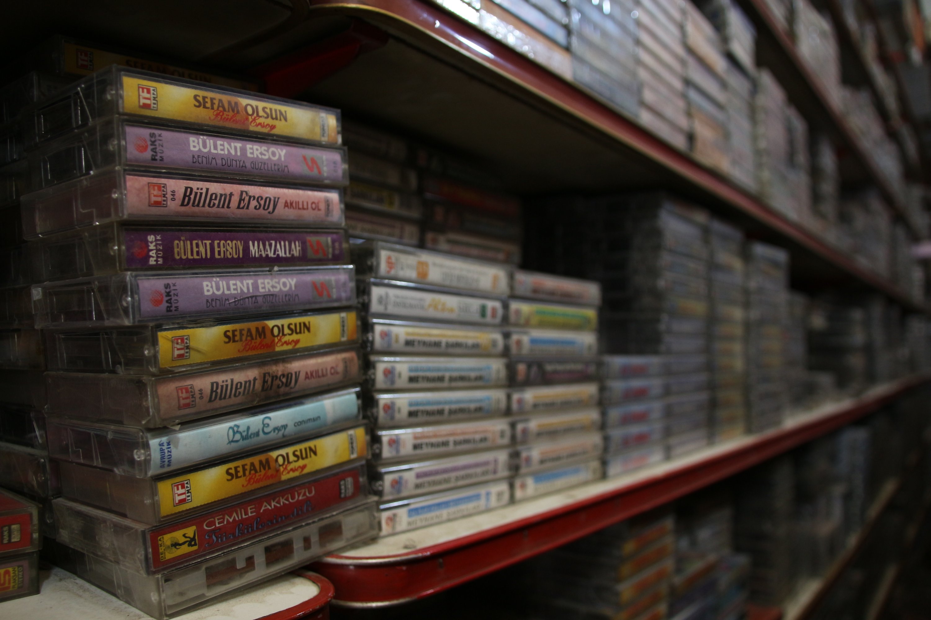
[[[313,265],[345,260],[338,231],[123,231],[126,267]]]

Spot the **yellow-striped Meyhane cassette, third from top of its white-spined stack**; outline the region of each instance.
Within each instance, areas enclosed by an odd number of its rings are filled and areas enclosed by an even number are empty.
[[[412,323],[391,319],[363,321],[363,342],[379,353],[437,355],[505,354],[505,333],[472,325]]]

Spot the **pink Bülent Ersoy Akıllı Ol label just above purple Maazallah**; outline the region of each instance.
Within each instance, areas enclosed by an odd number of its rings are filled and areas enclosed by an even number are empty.
[[[219,218],[338,225],[337,191],[262,187],[182,178],[126,176],[129,214],[143,218]]]

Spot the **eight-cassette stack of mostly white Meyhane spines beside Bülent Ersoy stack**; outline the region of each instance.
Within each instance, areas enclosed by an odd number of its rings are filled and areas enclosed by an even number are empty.
[[[506,505],[508,269],[384,242],[352,251],[382,534]]]

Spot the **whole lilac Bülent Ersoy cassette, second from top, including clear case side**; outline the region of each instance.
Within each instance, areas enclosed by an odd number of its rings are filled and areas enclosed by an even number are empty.
[[[29,154],[34,190],[123,166],[215,175],[218,179],[277,179],[331,186],[344,186],[348,180],[342,147],[317,147],[260,135],[247,138],[213,129],[181,129],[142,119],[90,125],[50,140]]]

